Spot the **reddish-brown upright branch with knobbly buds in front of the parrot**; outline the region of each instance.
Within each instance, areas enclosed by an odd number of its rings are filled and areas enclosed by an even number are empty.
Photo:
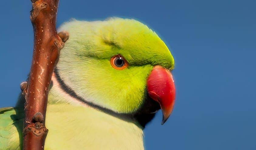
[[[28,82],[22,82],[25,96],[23,150],[43,150],[48,129],[46,106],[53,69],[67,32],[56,32],[59,0],[31,0],[30,19],[34,28],[34,50]],[[63,39],[63,40],[62,40]]]

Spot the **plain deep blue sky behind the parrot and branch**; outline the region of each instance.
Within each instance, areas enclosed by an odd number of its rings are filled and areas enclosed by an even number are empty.
[[[29,0],[0,9],[0,107],[14,106],[29,73]],[[166,42],[176,60],[176,106],[145,129],[146,150],[256,149],[256,1],[60,0],[57,26],[70,18],[135,18]]]

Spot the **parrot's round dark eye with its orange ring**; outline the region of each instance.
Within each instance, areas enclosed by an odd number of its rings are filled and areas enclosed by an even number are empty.
[[[128,62],[121,55],[114,55],[110,59],[110,64],[114,69],[123,70],[128,67]]]

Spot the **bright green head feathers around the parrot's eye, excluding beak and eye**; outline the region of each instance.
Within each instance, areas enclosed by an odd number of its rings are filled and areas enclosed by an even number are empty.
[[[70,34],[56,66],[60,78],[79,97],[114,112],[136,112],[145,102],[152,68],[174,67],[165,43],[132,19],[71,21],[59,30]],[[127,60],[126,69],[111,66],[110,59],[118,54]]]

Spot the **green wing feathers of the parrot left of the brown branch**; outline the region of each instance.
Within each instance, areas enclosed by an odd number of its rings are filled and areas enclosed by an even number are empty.
[[[23,118],[23,109],[0,108],[0,150],[20,149]]]

